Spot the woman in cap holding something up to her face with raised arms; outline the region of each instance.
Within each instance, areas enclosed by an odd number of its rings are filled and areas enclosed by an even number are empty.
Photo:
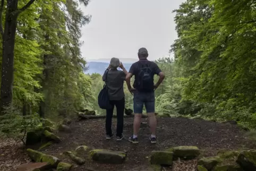
[[[117,67],[120,67],[123,71],[118,71]],[[103,75],[103,81],[106,81],[108,88],[108,96],[112,109],[107,109],[106,116],[106,133],[107,140],[113,137],[112,134],[112,117],[114,106],[116,106],[117,115],[117,127],[116,127],[116,140],[121,141],[124,138],[123,126],[124,126],[124,81],[127,71],[118,58],[112,58],[110,64]]]

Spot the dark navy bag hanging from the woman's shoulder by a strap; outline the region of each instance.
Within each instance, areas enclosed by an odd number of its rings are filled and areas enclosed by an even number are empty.
[[[103,86],[103,89],[100,90],[99,95],[98,95],[98,105],[101,109],[111,109],[112,105],[110,104],[110,100],[108,97],[108,88],[107,88],[107,75],[108,71],[106,73],[106,81]]]

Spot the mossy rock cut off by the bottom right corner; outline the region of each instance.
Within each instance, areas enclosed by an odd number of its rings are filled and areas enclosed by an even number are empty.
[[[256,150],[241,151],[236,163],[244,170],[256,170]]]

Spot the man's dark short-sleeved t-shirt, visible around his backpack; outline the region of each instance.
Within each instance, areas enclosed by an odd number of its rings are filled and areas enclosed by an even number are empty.
[[[137,82],[137,79],[138,79],[138,74],[140,72],[140,69],[141,69],[142,65],[148,65],[150,67],[150,69],[152,71],[151,72],[152,79],[153,79],[153,76],[155,74],[158,75],[161,72],[161,70],[159,69],[159,67],[157,66],[157,64],[155,62],[148,61],[147,59],[146,60],[140,60],[138,62],[133,63],[132,66],[130,67],[129,73],[135,75],[135,80],[134,80],[134,83],[133,83],[133,87],[135,89],[136,89],[136,82]]]

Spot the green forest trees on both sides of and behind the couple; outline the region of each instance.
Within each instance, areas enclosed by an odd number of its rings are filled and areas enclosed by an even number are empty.
[[[1,0],[1,134],[95,110],[104,82],[84,74],[81,28],[89,0]],[[173,11],[174,58],[155,61],[166,79],[156,90],[156,112],[234,120],[256,126],[256,4],[253,0],[187,0]],[[171,44],[172,42],[170,42]],[[157,76],[156,76],[157,79]],[[125,87],[126,108],[133,108]]]

